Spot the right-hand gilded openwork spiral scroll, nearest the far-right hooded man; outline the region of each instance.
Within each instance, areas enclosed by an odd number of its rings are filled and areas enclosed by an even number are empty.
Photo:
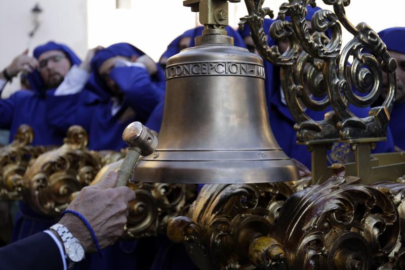
[[[359,23],[356,28],[356,36],[336,61],[328,61],[323,75],[330,99],[334,100],[332,106],[340,119],[338,128],[342,139],[386,137],[389,114],[395,100],[396,61],[389,56],[381,38],[366,23]],[[351,65],[348,65],[349,57],[353,57]],[[348,104],[372,106],[382,91],[382,72],[386,72],[389,78],[389,90],[384,101],[380,106],[372,107],[368,117],[358,117]]]

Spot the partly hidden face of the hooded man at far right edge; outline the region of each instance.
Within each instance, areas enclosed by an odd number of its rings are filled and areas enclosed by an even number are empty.
[[[391,57],[396,59],[398,67],[396,68],[396,82],[398,89],[396,91],[395,103],[405,100],[405,54],[388,51]],[[388,74],[383,72],[383,95],[388,91]]]

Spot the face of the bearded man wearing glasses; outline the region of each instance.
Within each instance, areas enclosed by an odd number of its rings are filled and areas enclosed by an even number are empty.
[[[39,74],[46,89],[58,87],[71,67],[66,55],[59,50],[52,50],[38,57]]]

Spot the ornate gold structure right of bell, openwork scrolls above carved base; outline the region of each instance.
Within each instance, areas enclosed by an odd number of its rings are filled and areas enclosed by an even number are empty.
[[[262,8],[264,0],[245,3],[249,15],[240,24],[249,25],[260,55],[280,66],[298,143],[312,151],[312,182],[321,184],[206,185],[187,215],[169,224],[169,238],[184,242],[201,269],[403,268],[405,184],[378,182],[402,182],[402,153],[371,155],[387,134],[396,92],[395,59],[366,23],[351,24],[345,15],[349,1],[323,0],[334,12],[314,14],[313,34],[305,15],[314,0],[282,4],[270,35],[276,42],[288,40],[283,54],[277,45],[268,45],[263,29],[264,17],[273,12]],[[341,25],[353,35],[343,47]],[[389,88],[375,106],[382,72]],[[321,121],[304,109],[329,106],[333,111]],[[368,117],[357,117],[353,106],[370,107]],[[328,167],[326,153],[334,142],[350,144],[355,161]]]

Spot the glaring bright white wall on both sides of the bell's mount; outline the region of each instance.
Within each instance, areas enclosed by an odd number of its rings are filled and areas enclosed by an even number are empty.
[[[273,9],[286,0],[266,0],[263,7]],[[88,43],[90,47],[129,42],[149,54],[155,61],[167,45],[185,30],[197,25],[196,14],[182,6],[182,0],[132,0],[131,10],[116,10],[115,0],[88,0]],[[367,7],[365,8],[365,4]],[[332,9],[318,0],[319,7]],[[354,25],[365,21],[376,31],[405,26],[404,0],[353,0],[346,8]],[[247,15],[245,1],[229,4],[229,23],[237,27],[240,17]],[[352,38],[343,32],[344,44]]]

